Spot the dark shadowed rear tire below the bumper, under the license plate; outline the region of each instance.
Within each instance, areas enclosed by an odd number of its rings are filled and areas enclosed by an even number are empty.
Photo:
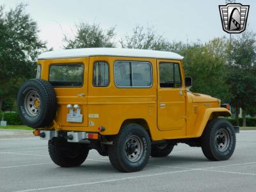
[[[89,153],[88,145],[69,143],[64,138],[53,138],[48,141],[49,155],[52,161],[61,167],[81,165]]]

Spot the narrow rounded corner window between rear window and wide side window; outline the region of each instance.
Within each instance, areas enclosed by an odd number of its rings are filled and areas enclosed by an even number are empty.
[[[96,61],[93,64],[93,86],[108,86],[109,70],[106,61]]]

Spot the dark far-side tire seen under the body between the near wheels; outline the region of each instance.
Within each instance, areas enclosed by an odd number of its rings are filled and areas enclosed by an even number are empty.
[[[174,147],[174,145],[171,145],[169,143],[152,145],[150,156],[151,157],[166,157],[172,152],[173,147]]]

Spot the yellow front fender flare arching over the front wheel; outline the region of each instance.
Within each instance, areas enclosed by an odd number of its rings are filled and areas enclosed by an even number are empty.
[[[231,113],[226,108],[208,108],[205,109],[204,112],[202,111],[195,124],[195,128],[198,130],[196,132],[196,137],[200,137],[202,135],[209,120],[218,116],[231,116]]]

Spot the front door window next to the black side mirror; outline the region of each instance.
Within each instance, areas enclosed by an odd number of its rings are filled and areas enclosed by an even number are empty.
[[[181,86],[180,68],[177,63],[159,63],[160,87],[178,88]]]

